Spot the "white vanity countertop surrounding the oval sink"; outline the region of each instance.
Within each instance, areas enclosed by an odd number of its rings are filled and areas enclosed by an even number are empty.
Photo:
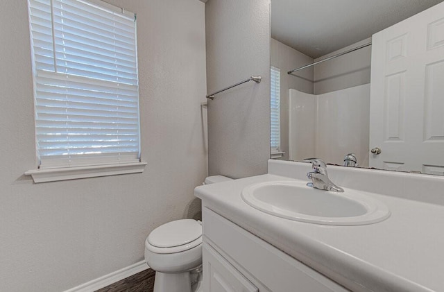
[[[203,205],[352,291],[444,291],[444,206],[366,193],[391,210],[385,221],[358,226],[302,223],[261,212],[241,198],[279,175],[196,188]],[[204,222],[205,224],[205,222]]]

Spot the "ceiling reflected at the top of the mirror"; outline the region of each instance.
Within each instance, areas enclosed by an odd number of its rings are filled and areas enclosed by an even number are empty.
[[[271,36],[318,58],[444,0],[271,0]]]

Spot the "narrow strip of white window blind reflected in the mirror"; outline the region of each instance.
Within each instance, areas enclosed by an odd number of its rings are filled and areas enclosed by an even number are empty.
[[[280,69],[271,67],[271,152],[280,151]]]

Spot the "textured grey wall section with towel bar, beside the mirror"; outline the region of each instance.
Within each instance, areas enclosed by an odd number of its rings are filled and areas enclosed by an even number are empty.
[[[270,0],[210,0],[205,5],[207,92],[251,75],[208,102],[210,175],[266,173],[270,157]]]

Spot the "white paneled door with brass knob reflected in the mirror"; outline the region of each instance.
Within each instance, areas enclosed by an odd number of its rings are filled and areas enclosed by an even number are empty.
[[[373,35],[370,167],[444,175],[444,2]]]

